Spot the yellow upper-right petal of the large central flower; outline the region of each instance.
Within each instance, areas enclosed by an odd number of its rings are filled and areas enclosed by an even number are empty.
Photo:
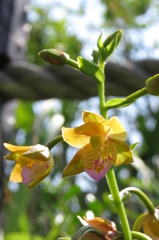
[[[103,122],[103,124],[107,127],[110,127],[110,130],[107,134],[109,140],[125,141],[127,138],[127,133],[117,117],[112,117]]]

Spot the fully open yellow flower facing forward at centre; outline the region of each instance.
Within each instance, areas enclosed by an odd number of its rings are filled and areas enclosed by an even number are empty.
[[[127,133],[117,117],[105,120],[101,115],[83,111],[84,124],[62,128],[65,142],[80,148],[63,171],[63,177],[85,171],[99,181],[112,165],[133,162],[133,154],[125,143]]]

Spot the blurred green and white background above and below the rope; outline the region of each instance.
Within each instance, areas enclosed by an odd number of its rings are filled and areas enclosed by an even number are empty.
[[[124,38],[113,61],[126,63],[127,60],[157,57],[158,44],[153,29],[157,26],[158,1],[155,0],[101,0],[50,1],[46,6],[42,2],[31,2],[28,12],[30,35],[26,60],[36,64],[45,64],[37,55],[45,48],[57,48],[76,58],[79,54],[87,56],[87,47],[95,47],[100,29],[109,34],[117,28],[124,29]],[[88,16],[88,9],[100,8],[101,15]],[[54,17],[56,11],[63,17]],[[154,14],[155,13],[155,14]],[[87,17],[88,16],[88,17]],[[79,25],[86,18],[85,30]],[[97,21],[97,19],[100,21]],[[71,19],[76,19],[72,21]],[[97,24],[98,22],[98,24]],[[72,29],[72,30],[70,30]],[[81,37],[82,31],[88,35]],[[147,40],[149,36],[149,39]],[[92,46],[94,44],[94,46]],[[91,52],[90,52],[91,55]],[[89,57],[89,56],[87,56]],[[86,107],[87,104],[87,107]],[[74,126],[81,123],[83,108],[98,111],[98,100],[88,99],[74,102],[66,99],[49,99],[39,102],[17,101],[12,109],[3,113],[3,118],[11,117],[8,123],[8,141],[12,144],[46,144],[60,133],[63,124]],[[7,109],[7,106],[6,106]],[[136,153],[135,165],[116,169],[120,189],[137,186],[144,190],[155,205],[158,204],[159,183],[159,108],[158,100],[146,97],[131,107],[110,111],[109,116],[118,115],[126,130],[128,141],[140,141]],[[47,179],[31,191],[21,184],[8,183],[12,163],[5,162],[5,240],[42,240],[57,239],[59,236],[71,236],[80,223],[77,215],[103,216],[120,224],[116,209],[108,199],[109,191],[105,179],[94,182],[85,174],[69,179],[61,179],[61,172],[74,154],[66,144],[59,144],[53,150],[55,166]],[[131,225],[143,212],[143,206],[132,196],[125,202]]]

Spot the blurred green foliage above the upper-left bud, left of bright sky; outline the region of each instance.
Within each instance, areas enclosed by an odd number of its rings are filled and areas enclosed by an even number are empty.
[[[27,59],[36,64],[44,64],[38,56],[43,49],[56,48],[77,58],[82,49],[82,42],[67,31],[66,20],[54,20],[50,17],[50,8],[35,7],[32,9],[36,18],[30,22],[31,30],[28,41]]]

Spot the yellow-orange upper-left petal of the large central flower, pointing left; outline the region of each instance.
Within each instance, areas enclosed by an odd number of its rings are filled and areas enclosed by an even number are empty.
[[[90,122],[76,128],[62,128],[62,136],[65,142],[73,147],[82,148],[89,143],[93,134],[103,134],[104,128],[100,123]]]

